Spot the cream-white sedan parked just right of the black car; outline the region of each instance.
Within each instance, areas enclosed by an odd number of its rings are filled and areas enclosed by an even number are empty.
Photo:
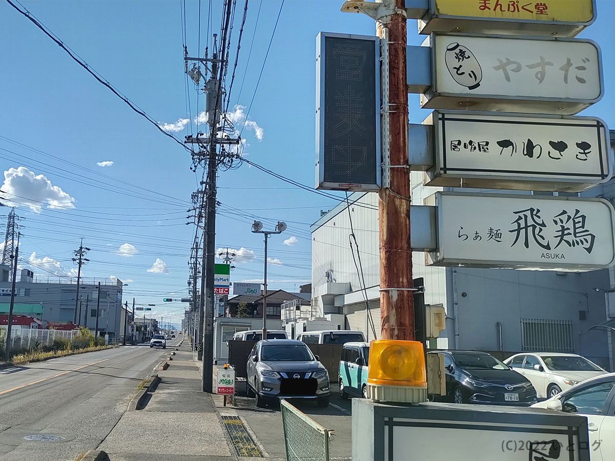
[[[569,353],[522,353],[507,358],[504,363],[529,379],[539,398],[551,398],[579,382],[606,373],[586,358]]]

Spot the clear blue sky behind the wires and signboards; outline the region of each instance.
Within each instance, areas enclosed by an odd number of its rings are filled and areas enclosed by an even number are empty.
[[[219,30],[222,2],[212,0],[211,4],[213,30]],[[243,4],[237,2],[233,60]],[[597,21],[579,37],[601,46],[605,97],[583,114],[599,116],[613,128],[615,2],[598,0],[597,4]],[[66,45],[161,124],[194,119],[205,103],[201,95],[197,111],[196,91],[190,85],[191,108],[189,114],[186,111],[180,5],[179,0],[23,1]],[[207,44],[209,5],[200,3],[201,54]],[[280,0],[263,0],[254,33],[259,5],[260,0],[248,4],[231,107],[244,106],[245,115],[255,95],[248,117],[252,121],[244,130],[247,158],[311,186],[315,37],[319,31],[371,35],[375,25],[363,15],[339,12],[341,1],[287,0],[255,93]],[[190,55],[199,49],[198,9],[199,2],[186,2]],[[74,268],[71,252],[83,237],[84,245],[92,248],[85,277],[114,275],[129,280],[125,299],[157,304],[154,315],[175,315],[177,322],[184,305],[163,305],[162,297],[187,293],[194,227],[185,224],[186,210],[200,173],[197,178],[189,170],[191,159],[178,144],[130,110],[6,2],[0,2],[0,17],[0,167],[10,179],[3,190],[7,185],[15,187],[22,192],[20,197],[52,199],[62,207],[48,208],[32,200],[28,206],[25,199],[15,199],[20,202],[17,213],[24,218],[20,256],[33,262],[38,275],[68,273]],[[408,21],[409,44],[423,42],[424,36],[415,31],[415,22]],[[418,95],[410,95],[411,122],[421,122],[428,113],[418,107]],[[186,128],[177,135],[189,132]],[[101,167],[97,162],[113,165]],[[309,224],[319,218],[319,210],[328,210],[336,202],[248,165],[221,172],[218,185],[223,206],[216,246],[245,248],[244,262],[236,263],[231,281],[262,277],[263,238],[250,232],[252,215],[256,215],[268,219],[270,227],[278,220],[288,223],[288,230],[269,242],[269,256],[276,263],[269,266],[270,288],[295,291],[310,282]],[[8,208],[0,211],[4,221]],[[154,264],[157,259],[164,264]]]

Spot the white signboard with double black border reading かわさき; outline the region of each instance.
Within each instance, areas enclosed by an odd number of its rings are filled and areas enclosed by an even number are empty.
[[[609,130],[595,117],[434,111],[424,123],[435,132],[426,186],[581,192],[613,175]]]

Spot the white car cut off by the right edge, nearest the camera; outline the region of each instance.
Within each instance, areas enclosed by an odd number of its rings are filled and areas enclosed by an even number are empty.
[[[592,461],[608,461],[615,455],[615,373],[589,379],[553,396],[534,403],[547,408],[587,416],[589,456]]]

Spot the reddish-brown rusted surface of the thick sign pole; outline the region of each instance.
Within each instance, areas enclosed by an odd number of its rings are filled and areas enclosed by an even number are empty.
[[[405,0],[395,0],[405,10]],[[397,13],[387,18],[389,52],[389,152],[391,165],[408,165],[408,90],[406,86],[406,18]],[[378,28],[383,37],[383,30]],[[383,79],[385,76],[383,76]],[[391,168],[389,189],[378,200],[380,235],[380,288],[412,288],[410,248],[410,173]],[[397,194],[397,195],[396,195]],[[414,298],[410,290],[380,292],[383,339],[415,339]]]

